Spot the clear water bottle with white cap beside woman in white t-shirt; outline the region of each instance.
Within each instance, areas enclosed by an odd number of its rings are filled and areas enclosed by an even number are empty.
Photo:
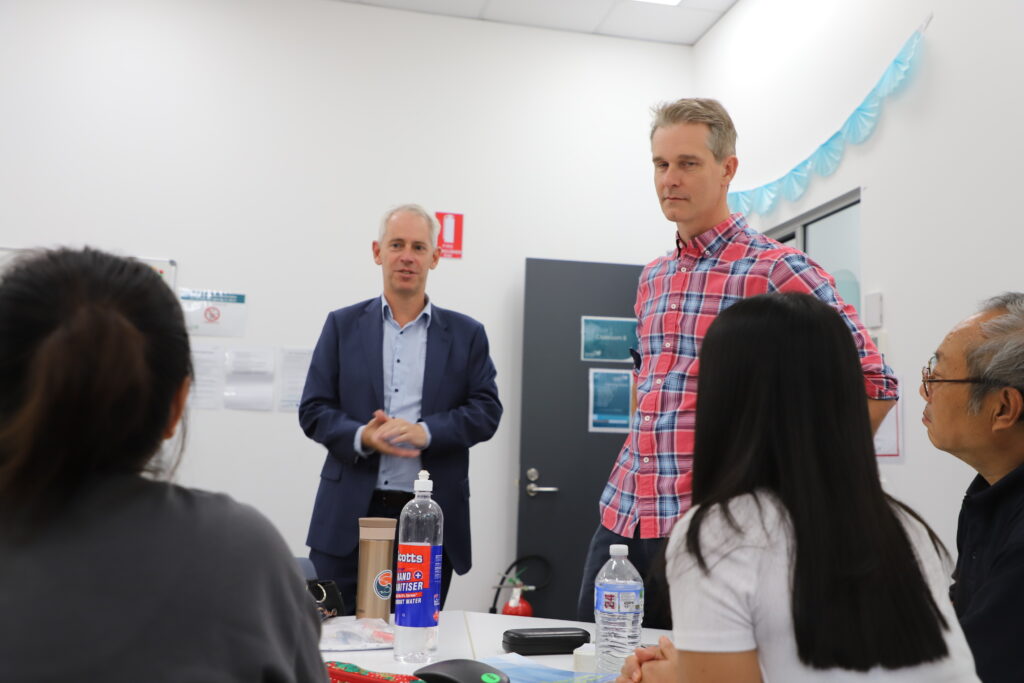
[[[597,673],[617,674],[640,646],[643,580],[629,560],[629,546],[609,546],[611,558],[594,581]]]

